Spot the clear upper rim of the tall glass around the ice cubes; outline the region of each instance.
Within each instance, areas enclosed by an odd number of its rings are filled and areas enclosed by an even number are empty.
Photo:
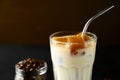
[[[52,37],[55,37],[55,35],[57,34],[60,34],[60,33],[65,33],[65,32],[71,32],[74,34],[71,34],[71,35],[75,35],[75,34],[78,34],[80,33],[80,31],[57,31],[57,32],[54,32],[52,33],[50,36],[49,36],[49,39],[50,39],[50,42],[53,41]],[[88,34],[89,36],[91,36],[93,38],[94,41],[97,41],[97,35],[92,33],[92,32],[86,32],[86,34]],[[66,34],[67,35],[67,34]],[[66,36],[66,35],[63,35],[63,36]],[[57,36],[56,36],[57,37]],[[58,43],[66,43],[66,42],[61,42],[61,41],[56,41],[54,40],[55,42],[58,42]],[[71,43],[72,44],[72,43]]]

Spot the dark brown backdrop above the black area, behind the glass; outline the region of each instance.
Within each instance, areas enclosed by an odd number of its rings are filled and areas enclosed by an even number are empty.
[[[118,4],[116,4],[118,3]],[[112,0],[0,0],[0,44],[49,44],[61,30],[81,31],[86,21],[108,5],[88,31],[101,45],[120,44],[120,5]]]

